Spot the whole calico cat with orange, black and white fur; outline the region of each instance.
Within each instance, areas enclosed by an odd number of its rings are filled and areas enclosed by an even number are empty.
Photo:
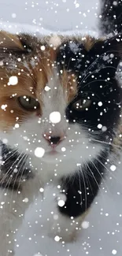
[[[47,183],[58,191],[54,236],[72,239],[90,209],[120,124],[121,41],[0,32],[1,256]]]

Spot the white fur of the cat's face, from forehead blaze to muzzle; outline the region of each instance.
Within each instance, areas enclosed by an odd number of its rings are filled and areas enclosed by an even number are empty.
[[[102,146],[91,145],[87,138],[87,132],[83,131],[81,125],[68,124],[66,121],[66,95],[55,72],[52,80],[49,78],[48,86],[50,91],[44,91],[42,95],[43,116],[41,118],[32,114],[31,118],[20,125],[20,128],[11,128],[6,133],[0,132],[1,139],[8,139],[11,147],[17,145],[20,152],[30,154],[29,161],[31,161],[33,172],[36,172],[44,183],[53,179],[55,173],[57,173],[56,177],[60,178],[76,172],[79,169],[79,164],[81,164],[80,169],[82,169],[85,161],[94,158],[102,150]],[[50,113],[54,111],[61,113],[61,121],[57,124],[52,124],[49,120]],[[57,146],[57,154],[55,155],[50,154],[52,149],[43,137],[43,134],[50,131],[52,132],[51,135],[54,136],[60,136],[62,132],[66,136],[66,139]],[[43,147],[45,150],[43,158],[35,157],[36,147]],[[62,147],[65,147],[65,152],[61,151]]]

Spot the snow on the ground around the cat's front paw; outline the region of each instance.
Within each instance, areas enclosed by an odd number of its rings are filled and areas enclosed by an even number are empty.
[[[37,253],[41,256],[121,256],[121,167],[118,165],[114,172],[108,170],[107,178],[103,180],[104,189],[95,198],[91,212],[86,217],[88,228],[82,230],[76,243],[67,243],[64,247],[60,242],[50,239],[46,233],[55,214],[55,190],[47,187],[46,199],[42,202],[41,198],[38,198],[26,213],[24,224],[17,235],[16,256],[34,256]]]

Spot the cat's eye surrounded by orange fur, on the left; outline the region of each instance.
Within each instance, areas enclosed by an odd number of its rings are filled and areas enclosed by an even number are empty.
[[[35,98],[23,95],[18,97],[17,100],[23,109],[28,111],[36,111],[36,109],[39,109],[39,102]]]

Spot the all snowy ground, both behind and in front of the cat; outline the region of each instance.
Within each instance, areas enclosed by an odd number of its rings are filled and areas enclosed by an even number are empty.
[[[40,0],[39,2],[0,0],[0,4],[0,26],[11,32],[42,33],[45,32],[43,28],[53,31],[76,29],[96,31],[97,28],[98,2],[96,0]],[[33,27],[31,27],[32,24]],[[26,213],[24,224],[17,234],[16,256],[34,256],[38,252],[43,256],[113,256],[115,254],[121,256],[121,167],[122,165],[119,165],[114,173],[108,171],[105,183],[103,181],[104,189],[95,198],[91,212],[87,216],[89,228],[81,232],[76,243],[63,246],[46,235],[47,219],[53,217],[51,212],[54,210],[53,191],[50,191],[50,188],[47,189],[47,199],[41,202],[38,198]],[[43,227],[41,227],[42,224]]]

